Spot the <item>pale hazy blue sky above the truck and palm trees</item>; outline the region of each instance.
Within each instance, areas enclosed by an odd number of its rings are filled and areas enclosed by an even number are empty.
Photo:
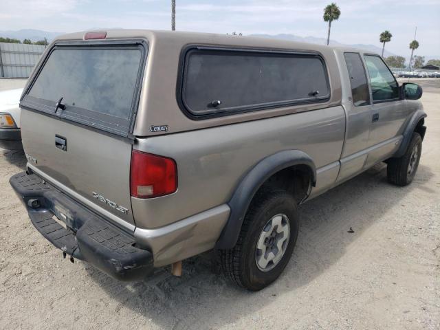
[[[333,0],[334,1],[334,0]],[[322,10],[328,1],[176,0],[177,30],[327,36]],[[409,56],[417,25],[417,54],[440,56],[440,0],[336,1],[341,17],[331,39],[380,47],[379,34],[393,34],[386,49]],[[170,29],[170,0],[1,0],[0,30],[74,32],[90,28]]]

